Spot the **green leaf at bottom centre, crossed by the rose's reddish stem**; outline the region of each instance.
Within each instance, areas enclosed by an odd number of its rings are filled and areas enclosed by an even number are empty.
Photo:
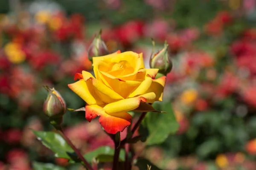
[[[98,149],[93,150],[89,153],[86,153],[84,155],[84,158],[89,162],[91,162],[93,158],[99,159],[99,162],[113,161],[114,152],[115,150],[113,150],[111,147],[104,146],[104,147],[99,147]],[[120,150],[119,159],[121,161],[125,160],[125,150],[123,149]]]

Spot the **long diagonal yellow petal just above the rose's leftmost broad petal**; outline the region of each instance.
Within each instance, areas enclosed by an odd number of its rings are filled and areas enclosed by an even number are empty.
[[[122,96],[117,94],[115,91],[113,91],[111,88],[108,88],[106,85],[104,85],[99,80],[95,79],[92,74],[90,74],[87,71],[82,71],[82,75],[84,77],[84,80],[87,81],[88,79],[91,79],[94,88],[99,91],[100,93],[104,94],[105,96],[108,96],[111,99],[124,99]],[[110,101],[111,102],[111,101]]]

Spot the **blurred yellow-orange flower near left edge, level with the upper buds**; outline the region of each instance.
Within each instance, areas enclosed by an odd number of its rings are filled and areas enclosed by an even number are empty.
[[[26,59],[25,53],[21,50],[19,44],[9,42],[5,45],[4,51],[10,62],[18,64]]]

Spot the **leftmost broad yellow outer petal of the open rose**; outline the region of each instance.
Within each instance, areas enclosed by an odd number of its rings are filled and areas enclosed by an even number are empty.
[[[103,104],[97,95],[92,95],[94,94],[94,89],[92,86],[84,82],[84,79],[80,79],[78,82],[69,84],[68,87],[89,105]]]

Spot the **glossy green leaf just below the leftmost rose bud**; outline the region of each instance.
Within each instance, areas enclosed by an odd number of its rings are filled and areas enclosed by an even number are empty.
[[[67,144],[67,142],[59,135],[54,132],[45,132],[45,131],[35,131],[35,136],[38,137],[38,140],[48,147],[55,153],[55,157],[70,159],[70,156],[67,154],[73,153],[74,150]]]

